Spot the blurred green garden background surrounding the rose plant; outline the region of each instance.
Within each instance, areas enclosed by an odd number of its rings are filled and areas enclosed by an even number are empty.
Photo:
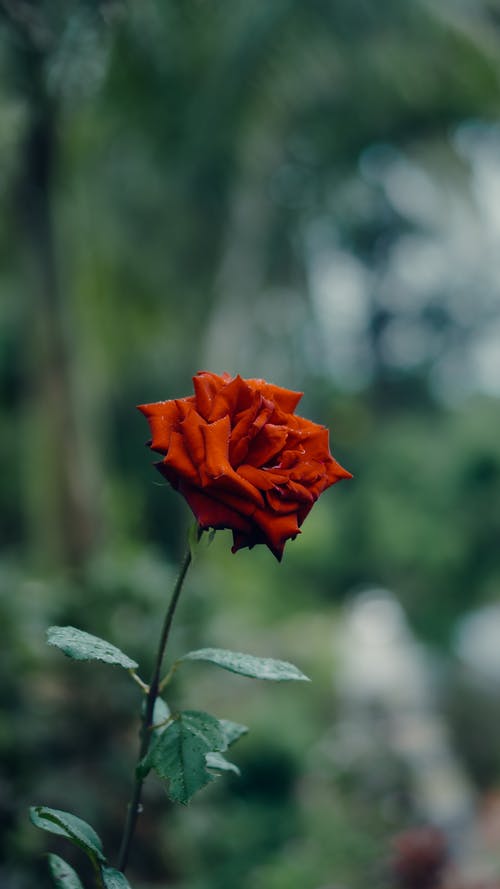
[[[199,369],[304,391],[355,479],[281,565],[197,559],[171,656],[313,682],[178,674],[242,776],[149,781],[134,889],[500,885],[500,4],[1,0],[0,71],[2,889],[84,868],[30,803],[116,855],[139,692],[45,628],[149,674],[190,517],[134,406]]]

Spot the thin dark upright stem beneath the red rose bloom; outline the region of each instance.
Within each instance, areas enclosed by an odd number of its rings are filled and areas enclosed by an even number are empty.
[[[198,529],[198,539],[201,536],[201,530]],[[181,566],[179,569],[179,574],[177,576],[177,580],[175,581],[174,588],[172,590],[172,596],[169,602],[169,606],[167,609],[167,613],[165,615],[165,621],[163,624],[163,629],[161,631],[160,643],[158,645],[158,653],[156,655],[156,662],[153,669],[153,675],[151,677],[151,682],[149,684],[149,691],[146,698],[146,706],[144,708],[144,715],[142,717],[141,723],[141,746],[139,749],[139,756],[137,759],[137,765],[135,769],[135,782],[134,789],[132,791],[132,798],[128,805],[127,810],[127,820],[125,822],[125,828],[123,831],[123,839],[120,847],[120,855],[118,858],[118,868],[121,871],[124,871],[127,862],[128,856],[130,852],[130,846],[132,844],[132,839],[135,832],[135,827],[137,824],[137,817],[139,815],[139,808],[141,804],[141,794],[142,794],[142,785],[144,783],[144,777],[139,774],[139,763],[146,756],[148,752],[148,748],[151,742],[151,726],[153,724],[153,711],[156,699],[158,697],[158,687],[160,684],[160,672],[161,665],[163,663],[163,658],[165,655],[165,649],[167,647],[167,641],[170,633],[170,627],[172,626],[172,620],[174,618],[175,609],[177,603],[179,601],[179,596],[182,590],[182,584],[184,583],[184,578],[186,577],[187,570],[191,564],[192,555],[191,548],[188,546],[186,550],[186,554],[181,562]]]

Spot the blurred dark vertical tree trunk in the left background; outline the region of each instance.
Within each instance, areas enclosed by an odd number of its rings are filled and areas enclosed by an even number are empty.
[[[27,524],[34,550],[47,566],[78,570],[99,525],[86,484],[72,380],[68,300],[60,280],[54,225],[57,106],[45,86],[44,54],[26,39],[18,54],[27,95],[19,160],[16,215],[26,282],[26,414],[23,442]]]

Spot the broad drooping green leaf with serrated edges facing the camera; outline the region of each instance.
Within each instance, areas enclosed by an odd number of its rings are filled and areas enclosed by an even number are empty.
[[[153,768],[168,780],[168,796],[186,805],[213,776],[207,771],[206,754],[225,750],[219,720],[209,713],[185,710],[157,736],[142,768]]]

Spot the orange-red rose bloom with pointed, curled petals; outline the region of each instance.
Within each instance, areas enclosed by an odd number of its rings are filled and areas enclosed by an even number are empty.
[[[156,466],[203,530],[229,528],[232,551],[285,543],[319,495],[351,473],[332,457],[328,430],[294,414],[302,397],[264,380],[202,371],[194,395],[139,405]]]

